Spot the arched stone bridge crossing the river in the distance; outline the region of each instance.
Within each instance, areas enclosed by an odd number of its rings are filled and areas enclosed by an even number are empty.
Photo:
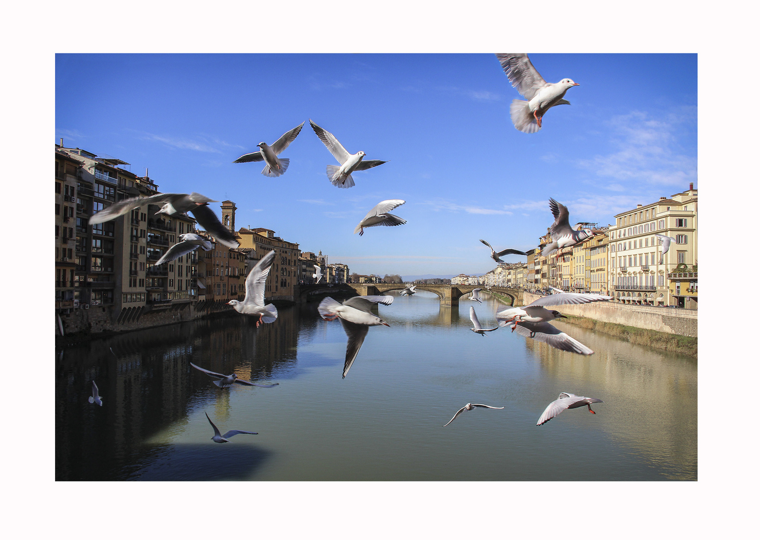
[[[318,285],[301,285],[299,286],[299,299],[301,302],[308,302],[310,296],[335,293],[337,291],[350,293],[355,292],[360,296],[380,295],[389,291],[400,291],[405,289],[404,283],[320,283]],[[489,292],[483,286],[479,285],[429,285],[421,283],[416,286],[418,291],[434,292],[441,300],[441,305],[459,305],[459,298],[469,295],[473,289],[483,289],[481,294]],[[511,305],[523,304],[522,289],[511,289],[509,287],[491,287],[492,292],[498,292],[502,296],[511,298]]]

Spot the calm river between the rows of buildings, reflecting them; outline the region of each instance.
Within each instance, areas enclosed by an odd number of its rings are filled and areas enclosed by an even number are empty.
[[[474,304],[484,328],[501,307]],[[317,303],[57,349],[56,480],[696,480],[697,362],[572,324],[594,349],[470,332],[473,302],[395,296],[346,378]],[[562,311],[559,308],[559,311]],[[189,363],[273,388],[220,389]],[[88,403],[96,381],[103,406]],[[537,426],[560,392],[602,399]],[[504,409],[465,411],[465,403]],[[204,412],[221,433],[216,444]]]

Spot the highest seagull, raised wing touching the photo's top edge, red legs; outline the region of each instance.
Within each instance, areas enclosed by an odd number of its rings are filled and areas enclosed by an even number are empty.
[[[547,83],[536,71],[530,58],[524,52],[497,54],[502,69],[509,82],[523,99],[512,99],[509,115],[515,128],[523,133],[535,133],[541,128],[541,118],[555,105],[570,105],[563,99],[568,88],[579,86],[572,79],[562,79],[559,83]]]

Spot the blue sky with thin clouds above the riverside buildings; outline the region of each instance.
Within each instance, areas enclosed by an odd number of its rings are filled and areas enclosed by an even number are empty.
[[[138,175],[147,167],[160,191],[231,199],[237,227],[274,229],[380,275],[486,272],[495,264],[478,239],[535,247],[553,221],[549,197],[572,223],[606,225],[698,188],[697,55],[530,58],[546,81],[580,84],[537,134],[511,124],[521,96],[492,54],[59,54],[55,142],[119,157]],[[98,84],[81,84],[83,73]],[[388,163],[335,188],[325,166],[337,162],[309,118],[351,153]],[[304,121],[280,178],[232,163]],[[353,234],[397,198],[406,225]]]

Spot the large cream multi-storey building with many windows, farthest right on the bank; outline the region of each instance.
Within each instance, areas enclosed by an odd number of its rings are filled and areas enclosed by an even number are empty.
[[[674,295],[670,274],[676,267],[697,266],[697,190],[660,197],[659,201],[619,213],[610,226],[610,292],[616,302],[686,306],[686,295]],[[667,254],[655,234],[676,238]],[[660,263],[660,259],[662,262]],[[678,272],[683,273],[683,272]],[[692,272],[693,273],[693,272]],[[696,306],[696,295],[689,295]]]

